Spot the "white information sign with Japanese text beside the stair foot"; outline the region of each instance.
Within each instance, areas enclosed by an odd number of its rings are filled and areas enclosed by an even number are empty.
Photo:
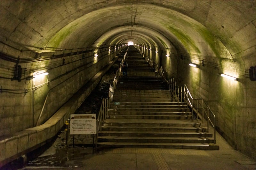
[[[97,133],[96,114],[71,114],[70,134],[96,134]]]

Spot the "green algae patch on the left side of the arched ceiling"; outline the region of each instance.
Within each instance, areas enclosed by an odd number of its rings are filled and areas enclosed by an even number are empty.
[[[61,42],[65,41],[65,39],[76,29],[76,26],[77,24],[63,27],[52,37],[48,43],[48,46],[52,48],[58,48]]]

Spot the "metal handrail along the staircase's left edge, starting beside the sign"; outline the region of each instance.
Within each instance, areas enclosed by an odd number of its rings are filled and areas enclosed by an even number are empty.
[[[116,70],[116,75],[114,76],[114,80],[113,80],[112,84],[109,85],[108,98],[103,98],[101,105],[100,105],[100,111],[99,111],[99,115],[97,118],[97,132],[96,132],[96,143],[95,143],[96,150],[98,147],[98,132],[99,132],[99,130],[101,130],[100,125],[108,117],[108,107],[110,105],[110,102],[113,101],[114,92],[117,87],[117,82],[118,82],[119,75],[122,70],[123,63],[124,63],[125,57],[127,55],[127,52],[128,52],[128,48],[126,49],[126,51],[124,53],[124,57],[123,57],[121,63],[119,64],[118,69]]]

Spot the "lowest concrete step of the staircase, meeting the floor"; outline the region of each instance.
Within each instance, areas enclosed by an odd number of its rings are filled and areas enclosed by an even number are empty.
[[[174,149],[197,149],[197,150],[219,150],[216,144],[204,143],[126,143],[126,142],[98,142],[99,147],[146,147],[146,148],[174,148]]]

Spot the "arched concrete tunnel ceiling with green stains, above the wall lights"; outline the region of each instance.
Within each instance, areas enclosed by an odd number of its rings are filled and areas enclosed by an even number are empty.
[[[132,40],[244,65],[256,45],[254,0],[2,0],[0,14],[0,49],[20,57],[28,55],[10,49],[86,48]]]

